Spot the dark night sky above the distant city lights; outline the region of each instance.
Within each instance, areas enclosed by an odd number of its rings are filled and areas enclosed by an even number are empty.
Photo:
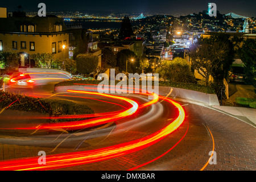
[[[214,2],[217,5],[217,10],[221,14],[230,12],[244,15],[256,16],[256,1],[255,0],[233,0],[233,1],[217,1],[217,0],[96,0],[96,1],[20,1],[3,0],[0,7],[7,7],[7,11],[13,11],[18,5],[23,7],[24,11],[38,11],[38,4],[46,3],[47,11],[68,11],[68,10],[100,10],[114,11],[122,13],[166,13],[166,14],[190,14],[199,13],[199,11],[207,10],[208,2]]]

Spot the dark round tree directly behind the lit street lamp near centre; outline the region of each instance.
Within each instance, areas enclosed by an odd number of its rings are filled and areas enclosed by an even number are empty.
[[[131,60],[134,61],[131,61]],[[130,49],[122,49],[117,53],[117,67],[119,71],[126,71],[126,61],[127,61],[127,72],[136,73],[139,68],[139,60],[135,53]]]

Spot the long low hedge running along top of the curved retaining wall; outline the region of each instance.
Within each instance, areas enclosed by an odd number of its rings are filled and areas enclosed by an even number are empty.
[[[74,84],[100,84],[101,81],[98,80],[74,80],[74,81],[63,81],[59,82],[55,86],[71,86]],[[117,84],[119,81],[115,81]],[[110,83],[110,82],[109,82]],[[127,84],[128,85],[128,84]],[[140,82],[142,85],[142,82]],[[152,85],[154,85],[154,81],[152,81]],[[159,86],[170,86],[174,88],[181,88],[181,89],[188,89],[188,90],[195,90],[198,92],[214,94],[214,89],[210,86],[204,86],[199,84],[192,84],[192,83],[181,83],[181,82],[168,82],[168,81],[159,81]]]

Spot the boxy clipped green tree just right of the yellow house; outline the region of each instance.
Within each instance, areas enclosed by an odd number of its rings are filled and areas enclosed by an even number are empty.
[[[98,56],[80,54],[76,57],[76,68],[79,73],[88,75],[96,71],[98,67]]]

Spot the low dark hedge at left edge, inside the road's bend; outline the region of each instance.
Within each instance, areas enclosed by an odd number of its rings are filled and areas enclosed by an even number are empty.
[[[34,98],[21,94],[0,91],[0,108],[49,113],[51,117],[74,114],[93,114],[90,107],[72,101]],[[50,119],[50,122],[63,122],[71,119]],[[72,119],[72,121],[74,121]]]

